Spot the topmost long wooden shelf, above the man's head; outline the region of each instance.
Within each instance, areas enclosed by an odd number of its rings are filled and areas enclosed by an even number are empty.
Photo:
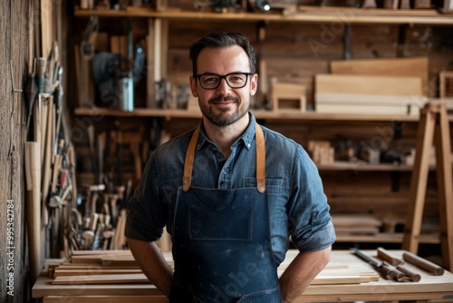
[[[88,17],[145,17],[178,20],[202,21],[234,21],[241,22],[301,22],[340,24],[431,24],[451,25],[451,15],[442,15],[436,10],[392,10],[363,9],[352,7],[318,7],[301,6],[294,14],[266,13],[210,13],[186,12],[169,9],[156,12],[150,8],[128,7],[126,10],[81,10],[75,9],[75,16]]]

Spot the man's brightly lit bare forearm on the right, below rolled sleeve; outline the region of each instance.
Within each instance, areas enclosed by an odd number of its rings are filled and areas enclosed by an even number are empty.
[[[327,265],[331,248],[319,251],[300,252],[280,277],[283,302],[292,302],[299,297]]]

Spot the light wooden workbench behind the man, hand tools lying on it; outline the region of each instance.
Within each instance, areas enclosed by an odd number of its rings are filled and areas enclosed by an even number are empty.
[[[400,257],[404,250],[390,250],[391,254]],[[371,257],[377,257],[376,250],[363,250]],[[287,253],[284,264],[294,259],[296,251]],[[363,265],[348,250],[333,250],[330,264],[348,266]],[[366,265],[368,266],[368,265]],[[419,282],[396,282],[380,278],[378,281],[356,284],[311,285],[304,294],[294,302],[344,302],[344,301],[385,301],[385,300],[442,300],[453,302],[453,274],[445,271],[442,276],[433,276],[409,263],[405,267],[421,275]],[[72,298],[73,302],[168,302],[159,289],[148,283],[130,284],[97,284],[97,285],[53,285],[49,277],[41,276],[34,284],[33,298],[42,298],[43,303],[62,302]]]

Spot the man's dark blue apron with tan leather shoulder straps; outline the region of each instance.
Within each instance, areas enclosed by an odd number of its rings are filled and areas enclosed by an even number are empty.
[[[188,146],[173,226],[170,302],[280,303],[265,192],[265,140],[256,124],[256,187],[191,187],[199,128]],[[237,168],[240,169],[240,168]]]

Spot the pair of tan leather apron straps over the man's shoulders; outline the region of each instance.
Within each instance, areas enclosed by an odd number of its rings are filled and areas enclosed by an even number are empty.
[[[192,169],[194,166],[195,150],[197,149],[198,136],[200,127],[198,126],[192,134],[188,143],[186,160],[184,161],[184,174],[182,177],[182,190],[188,191],[192,183]],[[256,189],[265,192],[265,135],[263,129],[258,123],[255,123],[255,141],[256,141]]]

